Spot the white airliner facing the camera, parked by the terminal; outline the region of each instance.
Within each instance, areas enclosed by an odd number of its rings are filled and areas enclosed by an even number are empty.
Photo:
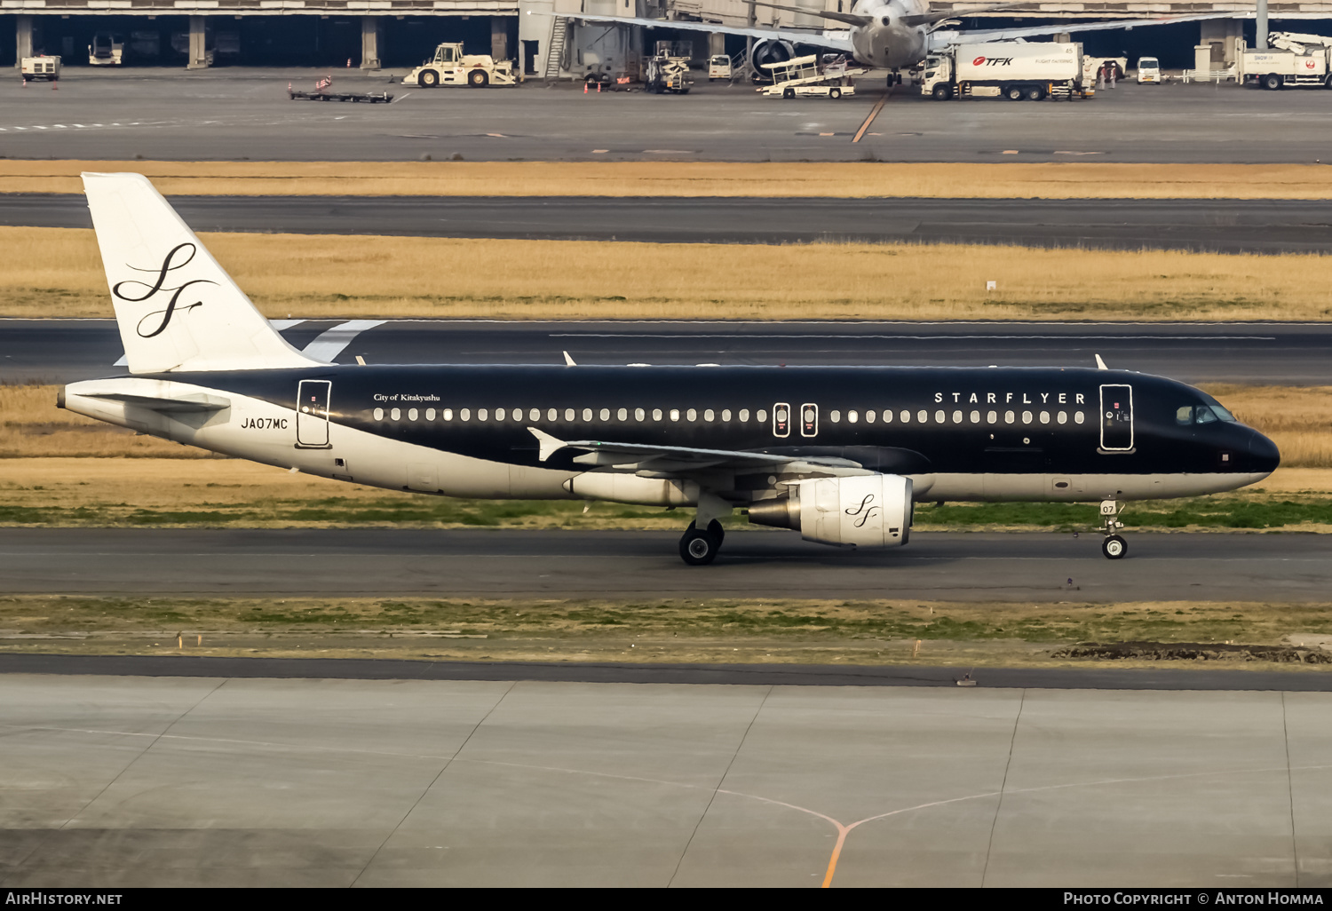
[[[643,25],[647,28],[675,28],[694,32],[741,35],[757,39],[754,45],[755,65],[782,63],[791,59],[793,45],[805,44],[829,51],[838,51],[855,59],[862,67],[872,69],[910,69],[924,60],[930,51],[959,41],[1011,41],[1014,39],[1040,37],[1064,32],[1092,32],[1116,28],[1140,28],[1146,25],[1168,25],[1172,23],[1192,23],[1204,19],[1229,19],[1235,13],[1196,13],[1189,16],[1154,16],[1150,19],[1120,19],[1114,21],[1075,23],[1059,21],[1046,25],[1023,25],[1016,28],[968,29],[964,32],[944,31],[946,25],[958,24],[959,17],[1027,5],[1026,3],[1006,3],[976,7],[975,9],[950,9],[930,12],[928,0],[854,0],[851,12],[830,9],[806,9],[777,3],[759,3],[755,7],[786,9],[805,16],[817,16],[847,25],[850,31],[799,32],[782,28],[739,28],[713,23],[686,23],[663,19],[638,19],[626,16],[597,16],[574,13],[567,16],[574,21],[618,23],[621,25]],[[900,81],[900,80],[899,80]]]

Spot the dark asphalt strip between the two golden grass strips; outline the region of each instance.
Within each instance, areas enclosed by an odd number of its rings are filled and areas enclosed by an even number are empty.
[[[1321,253],[1325,200],[176,196],[194,230],[709,244],[920,241]],[[92,228],[81,194],[0,194],[0,224]]]

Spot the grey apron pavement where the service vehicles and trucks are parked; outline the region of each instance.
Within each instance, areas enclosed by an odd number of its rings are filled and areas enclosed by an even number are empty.
[[[396,71],[398,76],[402,71]],[[69,69],[52,91],[0,89],[0,144],[16,158],[730,160],[1315,162],[1328,156],[1327,96],[1233,85],[1123,84],[1086,103],[763,99],[702,81],[687,96],[583,95],[579,87],[420,89],[389,73],[334,73],[336,88],[392,91],[390,105],[289,101],[322,71]]]

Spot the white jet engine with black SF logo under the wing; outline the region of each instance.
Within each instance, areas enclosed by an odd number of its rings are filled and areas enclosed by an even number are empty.
[[[911,537],[911,478],[862,474],[813,478],[785,497],[750,506],[750,522],[794,529],[806,541],[856,547],[900,547]]]

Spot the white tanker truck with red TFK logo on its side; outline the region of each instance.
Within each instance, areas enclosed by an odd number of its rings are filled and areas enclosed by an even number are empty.
[[[936,101],[1006,97],[1012,101],[1090,99],[1082,44],[991,41],[954,44],[924,61],[920,92]]]

